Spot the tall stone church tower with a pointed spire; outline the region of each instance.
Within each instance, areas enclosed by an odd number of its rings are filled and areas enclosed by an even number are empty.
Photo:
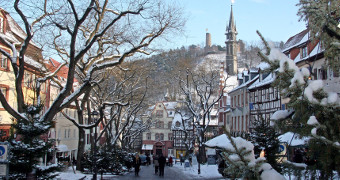
[[[227,26],[226,33],[227,36],[226,45],[226,71],[229,75],[237,74],[237,41],[236,41],[236,23],[234,21],[233,15],[233,5],[231,5],[229,26]]]

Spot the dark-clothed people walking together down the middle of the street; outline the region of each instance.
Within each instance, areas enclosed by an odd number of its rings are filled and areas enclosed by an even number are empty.
[[[169,158],[169,166],[172,166],[172,157]],[[147,156],[146,159],[147,165],[151,163],[150,157]],[[142,161],[139,157],[139,154],[136,154],[136,156],[133,158],[133,166],[135,168],[135,176],[139,176],[140,166],[142,164]],[[155,167],[155,174],[159,173],[159,176],[164,176],[164,167],[166,165],[166,158],[163,156],[163,154],[160,155],[154,155],[153,156],[153,164]]]

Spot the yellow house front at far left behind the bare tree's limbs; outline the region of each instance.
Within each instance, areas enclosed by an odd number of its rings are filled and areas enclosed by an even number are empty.
[[[13,54],[11,48],[6,45],[6,41],[11,44],[21,44],[26,37],[25,32],[13,20],[13,18],[5,10],[0,8],[0,48],[1,50]],[[20,46],[16,46],[19,51]],[[23,95],[25,103],[35,104],[35,79],[41,76],[45,71],[42,65],[42,50],[31,42],[25,54],[25,73],[23,79]],[[13,109],[17,109],[17,94],[15,91],[15,76],[10,59],[4,54],[0,53],[0,88],[1,92],[5,95],[7,102]],[[46,101],[46,84],[42,85],[42,101]],[[9,136],[9,129],[13,123],[13,118],[5,111],[0,103],[0,131],[1,140],[7,139]]]

